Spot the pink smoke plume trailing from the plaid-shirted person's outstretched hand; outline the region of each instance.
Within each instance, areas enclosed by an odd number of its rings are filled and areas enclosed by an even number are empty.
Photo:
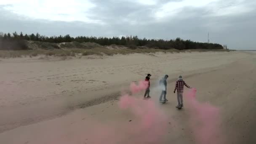
[[[190,121],[197,144],[221,144],[219,109],[196,100],[196,89],[186,94]]]

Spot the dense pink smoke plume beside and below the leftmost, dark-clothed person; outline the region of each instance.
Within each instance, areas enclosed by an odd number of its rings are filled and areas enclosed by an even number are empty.
[[[133,94],[139,93],[147,88],[147,82],[140,81],[139,85],[131,83],[130,88]],[[137,99],[125,94],[120,98],[119,107],[121,109],[131,109],[132,114],[138,120],[136,125],[130,127],[133,132],[130,136],[134,136],[134,138],[129,140],[129,144],[160,143],[162,136],[166,133],[168,121],[154,101]]]

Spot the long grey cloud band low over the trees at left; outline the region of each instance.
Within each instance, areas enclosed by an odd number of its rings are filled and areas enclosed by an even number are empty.
[[[2,32],[24,32],[24,33],[36,33],[41,35],[94,35],[95,31],[104,31],[103,27],[97,26],[97,24],[86,24],[81,21],[64,22],[64,21],[48,21],[43,19],[31,19],[17,16],[13,13],[0,9],[0,13],[4,13],[4,16],[0,16],[0,31]],[[99,34],[99,33],[98,33]]]

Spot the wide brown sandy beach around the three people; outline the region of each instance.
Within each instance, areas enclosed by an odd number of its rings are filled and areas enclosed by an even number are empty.
[[[189,127],[196,123],[189,119],[186,97],[184,108],[175,108],[173,90],[182,75],[197,89],[198,101],[220,109],[221,138],[216,139],[221,144],[256,143],[255,52],[37,56],[0,59],[0,67],[0,144],[135,144],[135,139],[151,144],[142,140],[151,131],[140,131],[140,117],[118,105],[131,82],[144,80],[148,73],[153,110],[163,112],[167,121],[159,126],[165,132],[156,128],[147,137],[159,135],[158,144],[198,144]],[[165,74],[169,101],[161,104],[157,84]],[[143,94],[133,97],[142,99]]]

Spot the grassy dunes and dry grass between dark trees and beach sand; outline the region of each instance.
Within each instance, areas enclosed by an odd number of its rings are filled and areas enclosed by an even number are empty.
[[[102,46],[97,43],[42,43],[28,41],[29,50],[0,50],[0,58],[16,58],[22,56],[34,57],[38,55],[46,56],[76,56],[76,55],[107,55],[113,56],[115,54],[131,54],[131,53],[180,53],[180,52],[205,52],[205,51],[229,51],[229,50],[207,50],[207,49],[190,49],[190,50],[162,50],[157,48],[147,48],[146,46],[136,47],[135,45],[109,45]]]

